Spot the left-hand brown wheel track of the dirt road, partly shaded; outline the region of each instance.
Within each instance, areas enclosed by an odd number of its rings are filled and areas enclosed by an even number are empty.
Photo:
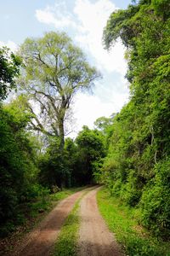
[[[56,241],[59,231],[64,224],[65,218],[71,212],[75,202],[86,191],[84,189],[70,195],[65,200],[60,201],[59,204],[50,212],[47,218],[44,218],[42,223],[36,230],[26,238],[17,252],[12,255],[17,256],[48,256]]]

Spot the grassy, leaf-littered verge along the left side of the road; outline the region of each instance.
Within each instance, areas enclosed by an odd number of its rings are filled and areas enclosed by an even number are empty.
[[[52,195],[40,196],[37,201],[24,206],[26,207],[24,209],[26,216],[21,215],[20,225],[16,226],[14,232],[11,232],[9,236],[0,239],[0,255],[8,255],[13,252],[14,248],[20,245],[24,236],[34,229],[59,201],[82,189],[86,189],[86,187],[63,189]]]

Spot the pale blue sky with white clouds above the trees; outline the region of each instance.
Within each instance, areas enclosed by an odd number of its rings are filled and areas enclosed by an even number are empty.
[[[82,125],[93,128],[97,118],[119,112],[128,101],[125,49],[118,40],[109,52],[105,50],[102,33],[111,13],[126,9],[129,3],[130,0],[0,0],[0,46],[16,50],[26,38],[64,31],[102,74],[90,93],[78,93],[74,99],[71,137]]]

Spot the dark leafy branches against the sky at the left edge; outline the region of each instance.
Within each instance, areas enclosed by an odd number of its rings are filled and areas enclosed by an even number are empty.
[[[0,49],[0,101],[15,88],[15,78],[19,75],[20,64],[20,58],[11,53],[8,48]]]

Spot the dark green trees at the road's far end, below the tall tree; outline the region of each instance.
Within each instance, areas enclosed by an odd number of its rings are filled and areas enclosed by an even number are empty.
[[[65,148],[59,150],[59,140],[50,139],[45,154],[39,161],[40,182],[54,186],[72,187],[94,183],[94,173],[105,156],[105,138],[100,131],[84,126],[76,141],[65,139]]]

